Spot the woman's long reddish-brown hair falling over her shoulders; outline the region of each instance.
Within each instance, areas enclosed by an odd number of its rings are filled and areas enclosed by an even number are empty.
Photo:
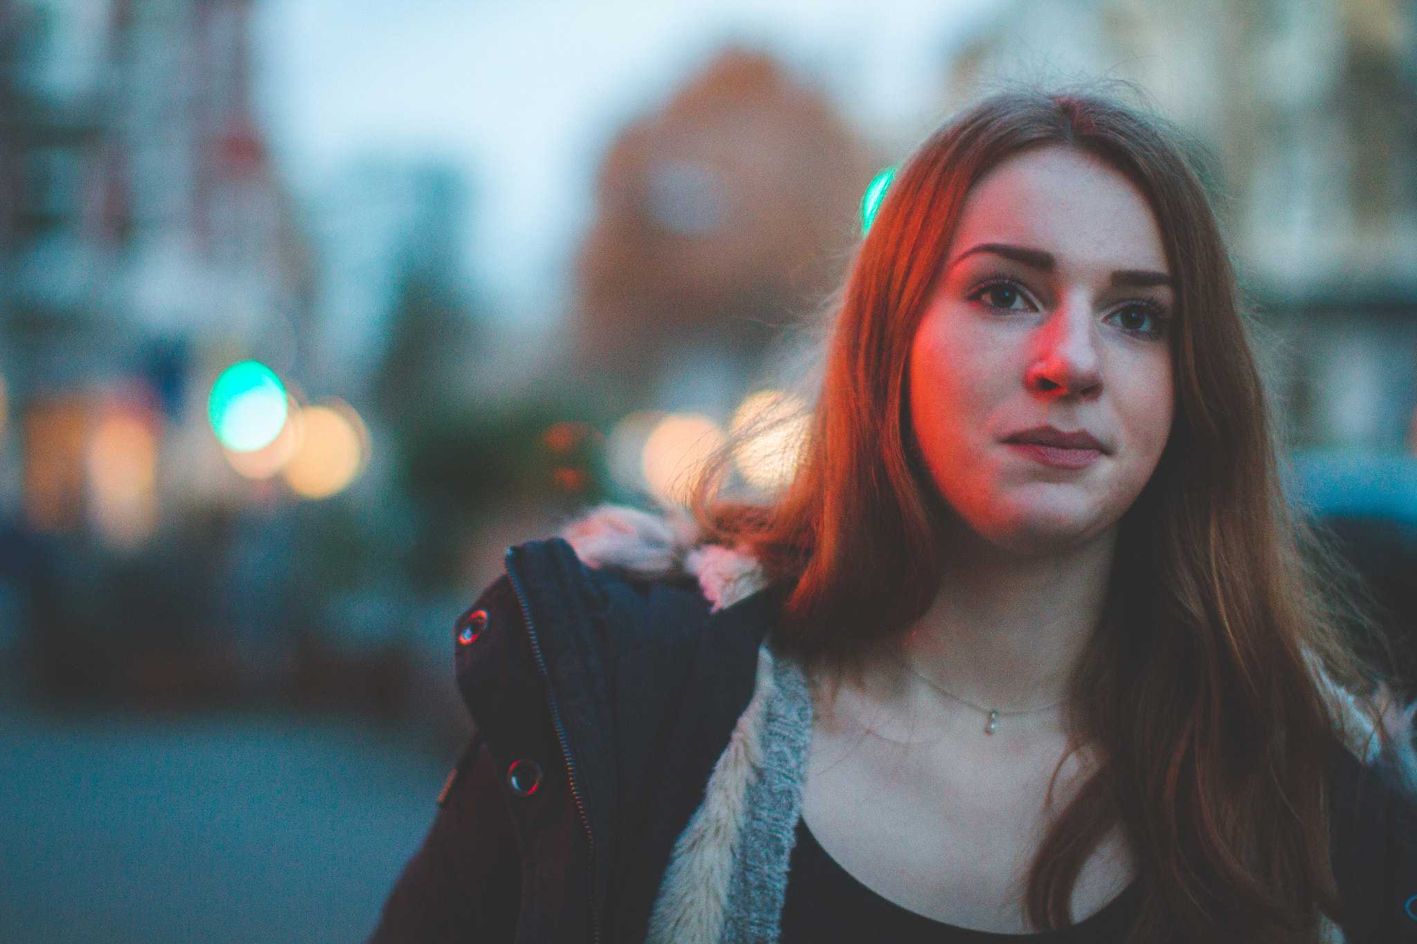
[[[697,505],[785,592],[777,641],[842,667],[900,638],[939,587],[941,501],[914,459],[905,365],[965,194],[1002,160],[1070,147],[1151,204],[1176,284],[1175,420],[1124,515],[1104,617],[1073,679],[1074,746],[1101,767],[1053,822],[1029,920],[1067,926],[1078,873],[1121,827],[1145,889],[1128,941],[1318,940],[1340,914],[1325,788],[1340,750],[1319,667],[1370,691],[1281,491],[1260,374],[1193,151],[1090,93],[1007,92],[900,168],[835,311],[795,480],[768,504]]]

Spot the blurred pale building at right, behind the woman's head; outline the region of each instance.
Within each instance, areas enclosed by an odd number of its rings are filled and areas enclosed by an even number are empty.
[[[1220,211],[1295,446],[1410,449],[1417,405],[1417,7],[1030,0],[951,65],[1135,82],[1217,157]]]

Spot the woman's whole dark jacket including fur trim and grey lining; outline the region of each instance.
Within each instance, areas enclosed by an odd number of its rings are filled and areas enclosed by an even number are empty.
[[[768,644],[758,563],[694,536],[602,508],[507,552],[453,630],[476,736],[374,941],[777,941],[811,698]],[[1359,916],[1328,940],[1417,940],[1411,709],[1319,679],[1352,752],[1333,862]],[[1377,725],[1403,752],[1382,777]]]

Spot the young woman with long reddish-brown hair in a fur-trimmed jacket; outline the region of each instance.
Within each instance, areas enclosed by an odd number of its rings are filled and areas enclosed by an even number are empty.
[[[985,100],[891,184],[777,501],[601,511],[459,620],[478,736],[376,940],[1417,940],[1407,718],[1267,423],[1183,150]]]

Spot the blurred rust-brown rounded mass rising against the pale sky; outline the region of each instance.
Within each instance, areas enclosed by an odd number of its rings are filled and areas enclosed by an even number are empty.
[[[728,50],[601,167],[578,358],[621,408],[723,413],[857,238],[866,143],[769,55]]]

